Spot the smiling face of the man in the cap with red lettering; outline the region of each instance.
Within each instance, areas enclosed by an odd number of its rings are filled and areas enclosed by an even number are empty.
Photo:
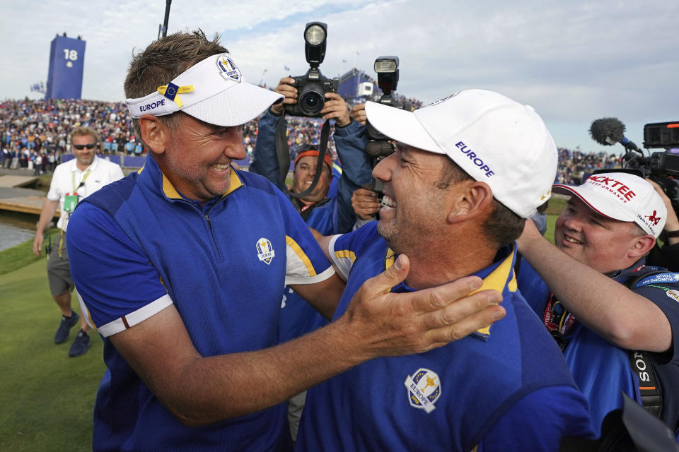
[[[554,241],[576,261],[600,273],[610,273],[631,266],[640,257],[634,253],[639,237],[633,230],[634,222],[599,215],[573,196],[557,218]]]

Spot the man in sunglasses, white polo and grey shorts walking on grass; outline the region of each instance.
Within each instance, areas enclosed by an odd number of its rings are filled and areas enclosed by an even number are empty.
[[[71,132],[72,152],[76,156],[69,162],[57,166],[52,175],[50,191],[47,193],[45,205],[42,206],[40,220],[33,240],[33,254],[40,256],[43,233],[50,224],[57,208],[59,216],[59,235],[52,244],[51,252],[47,251],[47,277],[50,292],[57,306],[62,311],[62,321],[54,335],[54,343],[61,344],[69,338],[71,328],[79,323],[79,315],[71,309],[71,292],[74,290],[69,255],[66,251],[66,228],[69,216],[76,204],[90,196],[101,187],[123,177],[122,169],[115,163],[100,159],[95,154],[99,136],[90,127],[79,126]],[[93,278],[95,276],[93,275]],[[85,316],[80,319],[80,331],[69,349],[69,356],[83,355],[90,347],[88,326]]]

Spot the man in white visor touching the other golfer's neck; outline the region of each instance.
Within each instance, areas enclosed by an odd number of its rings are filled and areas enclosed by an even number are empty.
[[[288,451],[282,402],[294,394],[504,314],[488,291],[466,296],[477,278],[388,293],[404,265],[366,283],[349,315],[273,347],[284,285],[325,316],[343,287],[288,199],[231,167],[245,157],[240,126],[282,96],[245,83],[201,31],[137,54],[125,92],[149,157],[80,203],[69,225],[73,278],[108,367],[93,450]]]

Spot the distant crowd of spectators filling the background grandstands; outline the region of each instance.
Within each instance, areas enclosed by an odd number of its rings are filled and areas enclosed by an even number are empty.
[[[355,99],[350,103],[362,102]],[[398,96],[397,102],[419,108],[422,102]],[[288,145],[292,155],[302,143],[320,142],[322,119],[292,118],[287,122]],[[145,155],[146,148],[134,133],[124,102],[95,100],[6,100],[0,103],[1,167],[23,168],[34,174],[52,172],[69,149],[69,132],[74,126],[91,126],[102,138],[100,153]],[[243,145],[248,158],[253,155],[257,120],[243,129]],[[332,135],[328,148],[337,153]],[[559,148],[559,169],[555,182],[580,184],[596,169],[620,167],[620,157],[604,152],[584,152]]]

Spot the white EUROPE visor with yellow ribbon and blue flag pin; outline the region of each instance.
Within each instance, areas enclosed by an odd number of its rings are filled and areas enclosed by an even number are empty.
[[[245,83],[231,54],[215,54],[180,73],[157,91],[127,99],[134,119],[142,114],[164,116],[181,110],[216,126],[240,126],[259,116],[284,96]]]

